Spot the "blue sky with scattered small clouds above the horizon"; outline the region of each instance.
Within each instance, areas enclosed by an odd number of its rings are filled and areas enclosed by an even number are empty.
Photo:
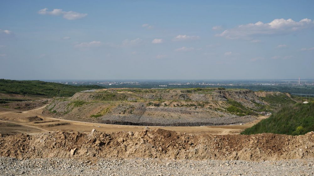
[[[0,78],[314,78],[314,1],[0,0]]]

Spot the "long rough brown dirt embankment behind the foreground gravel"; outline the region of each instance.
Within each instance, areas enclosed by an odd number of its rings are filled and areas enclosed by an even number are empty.
[[[314,157],[314,133],[288,136],[187,135],[162,129],[117,133],[2,136],[0,156],[13,158],[168,158],[282,160]]]

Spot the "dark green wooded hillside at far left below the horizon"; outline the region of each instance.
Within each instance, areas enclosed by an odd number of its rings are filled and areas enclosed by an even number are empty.
[[[79,91],[98,88],[104,87],[97,85],[72,86],[44,81],[15,81],[0,79],[0,93],[33,94],[53,97],[72,96]]]

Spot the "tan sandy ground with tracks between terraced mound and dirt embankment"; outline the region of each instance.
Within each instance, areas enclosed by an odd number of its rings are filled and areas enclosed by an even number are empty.
[[[143,129],[156,129],[162,128],[165,130],[173,130],[177,132],[195,133],[195,134],[239,134],[242,130],[252,127],[263,118],[268,116],[260,116],[258,120],[252,121],[246,124],[238,125],[222,125],[222,126],[192,126],[192,127],[146,127],[146,126],[131,126],[131,125],[108,125],[102,123],[87,123],[77,122],[71,120],[63,120],[58,118],[52,118],[49,115],[42,114],[43,108],[17,111],[12,109],[0,108],[0,133],[28,133],[30,135],[48,131],[79,131],[90,132],[92,129],[96,129],[100,132],[117,132],[117,131],[142,131]],[[35,121],[21,122],[21,119],[27,119],[30,117],[40,117],[41,123]],[[37,121],[38,122],[38,121]],[[64,124],[70,123],[70,124]],[[47,126],[48,125],[48,126]],[[50,125],[50,126],[49,126]]]

